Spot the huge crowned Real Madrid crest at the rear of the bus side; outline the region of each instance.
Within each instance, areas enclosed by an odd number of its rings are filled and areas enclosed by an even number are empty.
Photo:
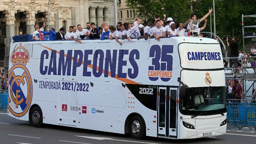
[[[16,117],[24,116],[31,105],[33,85],[30,73],[26,67],[29,62],[29,52],[18,46],[10,55],[13,66],[9,70],[8,110]]]

